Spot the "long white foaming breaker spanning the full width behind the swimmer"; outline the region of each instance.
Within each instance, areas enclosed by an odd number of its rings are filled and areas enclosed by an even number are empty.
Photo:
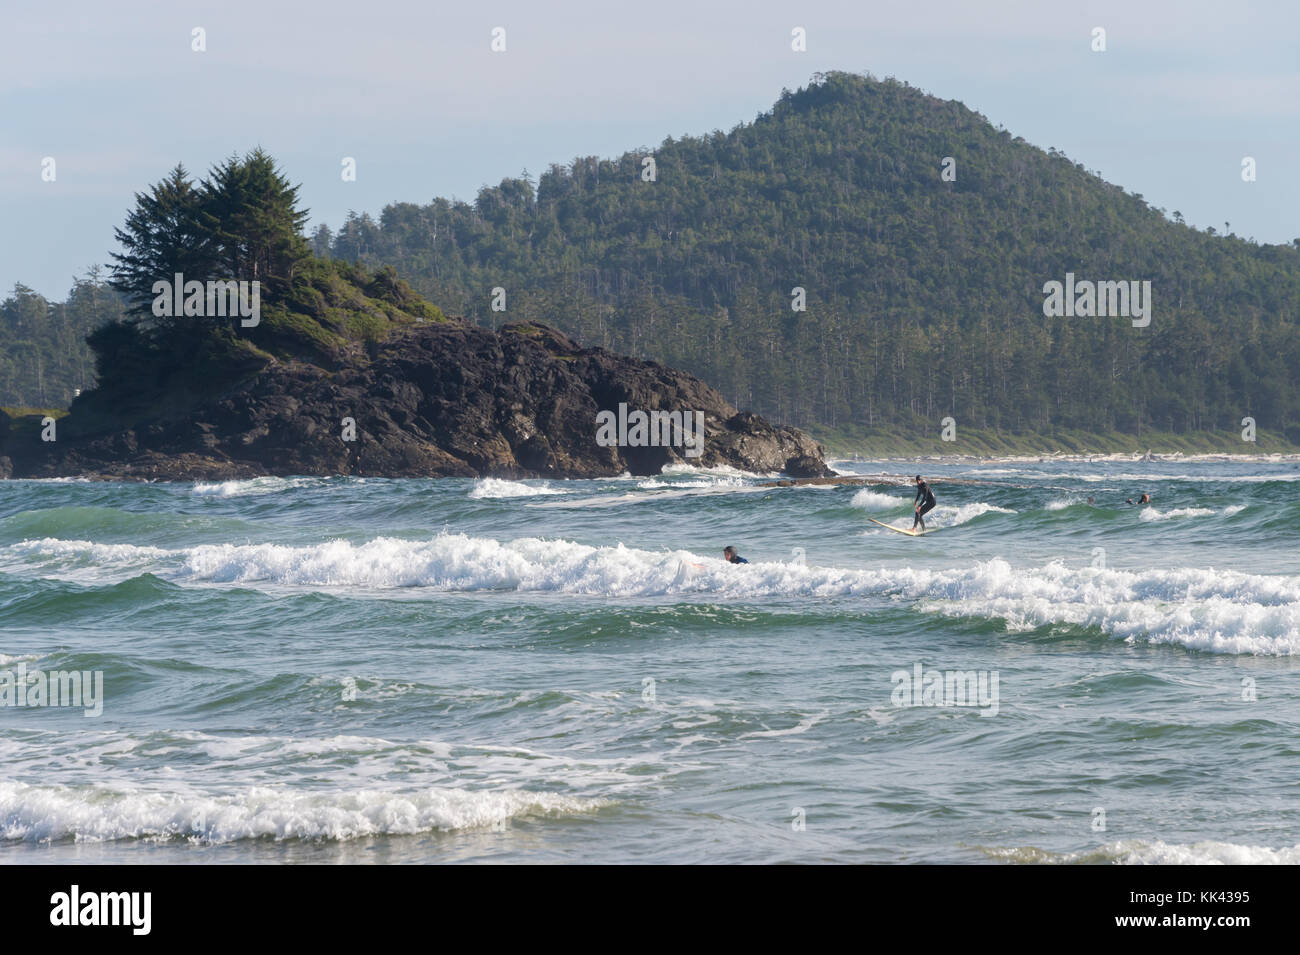
[[[953,518],[987,504],[953,508]],[[500,543],[464,534],[428,541],[376,538],[361,544],[205,544],[166,551],[84,541],[35,541],[0,548],[74,567],[101,561],[178,582],[364,591],[428,587],[516,590],[602,598],[896,596],[952,616],[992,617],[1011,630],[1049,624],[1096,628],[1113,637],[1221,654],[1300,654],[1300,577],[1213,568],[1122,570],[1013,567],[1002,559],[966,568],[838,569],[762,560],[732,565],[689,551],[524,538]],[[784,557],[784,555],[783,555]]]

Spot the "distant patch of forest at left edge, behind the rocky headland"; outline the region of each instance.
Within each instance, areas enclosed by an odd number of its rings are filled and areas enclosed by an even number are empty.
[[[122,314],[98,266],[73,281],[66,301],[16,285],[0,301],[0,405],[66,408],[95,383],[86,335]]]

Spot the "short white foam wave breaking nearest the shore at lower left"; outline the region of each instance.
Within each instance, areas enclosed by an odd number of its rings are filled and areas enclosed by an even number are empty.
[[[604,804],[514,789],[303,793],[263,786],[234,795],[191,795],[0,782],[0,839],[341,841],[477,829],[523,816],[592,812]]]

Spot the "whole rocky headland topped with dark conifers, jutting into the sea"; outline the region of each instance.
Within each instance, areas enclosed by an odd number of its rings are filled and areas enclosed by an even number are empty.
[[[136,194],[109,282],[126,314],[87,337],[96,386],[57,434],[0,407],[0,478],[831,473],[815,440],[689,374],[542,324],[452,321],[393,266],[315,256],[306,216],[261,149]],[[602,442],[601,414],[629,405],[676,416],[670,439]]]

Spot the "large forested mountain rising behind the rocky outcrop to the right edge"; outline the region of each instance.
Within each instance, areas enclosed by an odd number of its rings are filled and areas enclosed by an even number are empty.
[[[1300,239],[1197,231],[896,81],[818,75],[731,133],[580,157],[473,204],[354,213],[312,246],[395,265],[448,313],[543,320],[796,425],[1140,433],[1251,414],[1300,438]],[[1150,281],[1150,325],[1044,317],[1067,272]]]

